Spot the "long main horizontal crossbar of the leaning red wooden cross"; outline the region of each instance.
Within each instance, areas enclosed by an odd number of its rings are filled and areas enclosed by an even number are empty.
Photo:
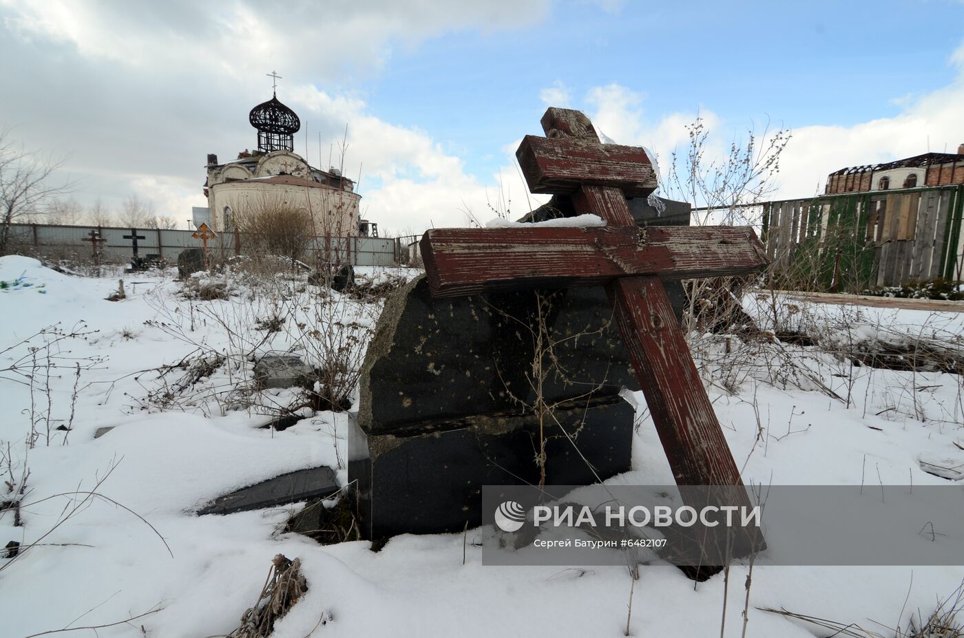
[[[434,228],[420,248],[437,297],[601,285],[640,274],[742,275],[767,263],[749,226]]]

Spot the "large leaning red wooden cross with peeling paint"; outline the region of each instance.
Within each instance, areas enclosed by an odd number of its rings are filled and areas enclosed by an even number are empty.
[[[677,484],[742,486],[662,280],[761,270],[763,245],[749,227],[640,229],[626,198],[656,189],[646,151],[601,144],[578,111],[549,109],[542,124],[548,137],[526,136],[516,152],[529,189],[568,195],[606,226],[429,230],[432,294],[604,285]]]

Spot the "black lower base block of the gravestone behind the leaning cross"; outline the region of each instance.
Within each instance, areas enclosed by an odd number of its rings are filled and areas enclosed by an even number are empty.
[[[629,471],[635,412],[622,398],[574,401],[555,416],[565,433],[544,422],[547,485],[591,485]],[[518,413],[470,416],[411,436],[365,434],[353,424],[348,480],[358,481],[363,538],[477,527],[482,486],[539,484],[539,440],[538,418]]]

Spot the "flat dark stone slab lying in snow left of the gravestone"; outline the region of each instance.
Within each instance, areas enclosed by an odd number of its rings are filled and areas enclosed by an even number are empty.
[[[242,488],[224,496],[218,496],[198,511],[205,514],[233,514],[249,510],[261,510],[312,498],[327,498],[340,489],[335,470],[327,465],[299,469]]]

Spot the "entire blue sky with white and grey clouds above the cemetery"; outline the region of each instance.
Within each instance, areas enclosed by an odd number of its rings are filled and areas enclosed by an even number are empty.
[[[547,104],[661,158],[697,114],[714,148],[791,127],[785,197],[964,143],[959,0],[0,0],[0,61],[0,127],[67,156],[77,199],[185,222],[206,154],[256,146],[273,69],[296,150],[337,165],[347,126],[362,211],[398,232],[527,210],[513,152]]]

